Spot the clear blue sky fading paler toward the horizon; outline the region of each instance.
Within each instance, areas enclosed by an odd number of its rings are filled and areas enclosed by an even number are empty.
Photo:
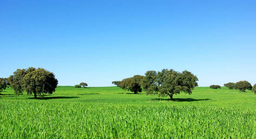
[[[2,0],[0,77],[53,72],[59,85],[189,70],[199,86],[256,83],[256,1]]]

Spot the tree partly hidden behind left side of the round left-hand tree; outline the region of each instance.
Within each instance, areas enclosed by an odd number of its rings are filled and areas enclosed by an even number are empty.
[[[10,84],[11,88],[13,88],[15,95],[21,95],[23,94],[23,88],[22,88],[22,81],[23,77],[29,73],[34,71],[35,68],[30,67],[28,69],[17,69],[13,72],[13,75],[8,77],[8,83]]]

